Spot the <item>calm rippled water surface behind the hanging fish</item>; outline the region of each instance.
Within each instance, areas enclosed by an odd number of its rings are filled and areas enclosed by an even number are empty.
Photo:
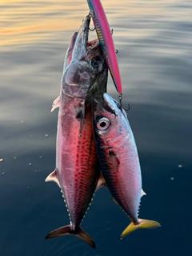
[[[191,0],[102,0],[122,75],[123,103],[138,145],[143,189],[139,216],[162,224],[122,241],[129,219],[100,189],[78,238],[45,240],[69,224],[60,189],[45,183],[55,166],[58,96],[70,35],[86,1],[2,0],[0,9],[1,255],[159,256],[192,254]],[[94,33],[94,32],[93,32]],[[93,35],[94,37],[94,35]],[[108,92],[117,98],[111,79]],[[179,165],[182,165],[179,167]]]

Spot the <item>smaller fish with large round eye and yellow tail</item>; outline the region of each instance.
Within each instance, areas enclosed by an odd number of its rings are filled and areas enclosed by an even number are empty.
[[[94,137],[102,175],[114,201],[128,217],[124,238],[137,229],[161,226],[157,221],[138,218],[142,173],[138,150],[125,110],[110,95],[95,97],[92,104]]]

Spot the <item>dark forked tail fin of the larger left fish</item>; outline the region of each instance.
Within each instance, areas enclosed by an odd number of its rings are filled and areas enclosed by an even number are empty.
[[[78,238],[82,238],[83,241],[87,242],[90,246],[92,246],[95,249],[95,243],[92,238],[90,238],[90,235],[86,233],[86,231],[82,230],[81,228],[78,228],[77,231],[72,230],[71,226],[62,226],[58,228],[57,230],[53,230],[50,232],[50,234],[47,234],[47,238],[56,238],[61,237],[66,234],[78,236]]]

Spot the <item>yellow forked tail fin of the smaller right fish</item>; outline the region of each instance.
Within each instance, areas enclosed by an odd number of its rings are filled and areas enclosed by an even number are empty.
[[[134,230],[138,229],[154,229],[157,228],[158,226],[161,226],[160,223],[157,221],[150,221],[150,220],[144,220],[144,219],[139,219],[138,224],[134,224],[134,222],[130,222],[130,225],[126,227],[126,229],[122,232],[121,234],[121,239],[124,238],[127,234],[130,234]]]

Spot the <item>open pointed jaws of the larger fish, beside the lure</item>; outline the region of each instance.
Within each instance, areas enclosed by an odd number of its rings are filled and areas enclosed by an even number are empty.
[[[73,55],[72,59],[82,60],[86,58],[88,52],[93,51],[99,47],[98,39],[89,41],[89,31],[90,31],[90,15],[82,20],[82,26],[80,26],[78,33],[74,35],[73,40]]]

